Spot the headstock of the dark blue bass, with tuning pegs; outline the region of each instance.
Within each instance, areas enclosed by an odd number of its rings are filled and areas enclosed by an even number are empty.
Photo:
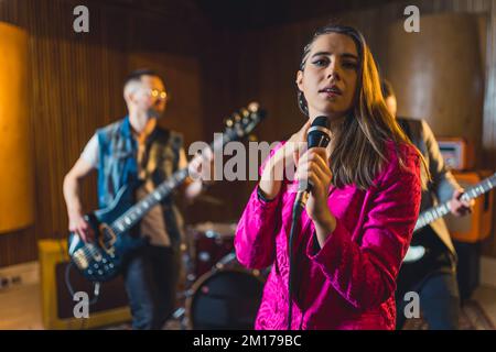
[[[225,121],[226,142],[241,140],[249,135],[257,124],[266,118],[266,111],[260,109],[258,102],[251,102],[246,108],[234,112]]]

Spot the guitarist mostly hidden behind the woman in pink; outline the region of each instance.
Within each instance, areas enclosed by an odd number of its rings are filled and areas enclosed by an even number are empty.
[[[396,96],[389,81],[382,80],[382,96],[389,111],[396,117]],[[431,182],[422,193],[420,212],[435,202],[450,201],[450,211],[462,217],[471,211],[474,201],[461,200],[464,189],[446,170],[438,142],[425,121],[398,118],[400,127],[420,150],[429,165]],[[405,324],[403,299],[408,292],[420,296],[422,317],[431,330],[457,330],[460,293],[456,280],[456,252],[442,218],[413,233],[411,245],[422,245],[425,254],[414,263],[405,263],[397,280],[397,329]]]

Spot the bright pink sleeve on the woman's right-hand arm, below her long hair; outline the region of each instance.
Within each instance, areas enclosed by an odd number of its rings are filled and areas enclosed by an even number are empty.
[[[407,169],[400,169],[397,161],[389,165],[358,230],[360,244],[352,241],[348,229],[337,220],[322,249],[317,244],[306,249],[333,287],[356,308],[377,306],[396,290],[396,277],[420,210],[419,162],[410,154],[405,160]]]

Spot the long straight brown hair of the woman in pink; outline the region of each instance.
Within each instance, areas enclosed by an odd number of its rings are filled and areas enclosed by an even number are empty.
[[[300,70],[303,72],[305,68],[313,42],[319,36],[330,33],[349,36],[355,42],[358,53],[357,88],[353,108],[343,123],[333,131],[334,147],[331,154],[333,184],[337,187],[354,184],[367,189],[387,162],[386,141],[393,141],[396,145],[400,143],[412,145],[412,143],[388,111],[374,57],[364,36],[354,28],[328,24],[317,30],[303,50]],[[298,90],[298,102],[300,110],[309,116],[308,103],[301,90]],[[424,169],[428,169],[422,154],[418,150],[417,152]],[[401,155],[398,156],[401,167],[405,167]]]

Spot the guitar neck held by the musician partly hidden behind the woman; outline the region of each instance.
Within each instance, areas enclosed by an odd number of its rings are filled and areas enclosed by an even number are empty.
[[[477,198],[484,195],[485,193],[489,191],[490,189],[493,189],[495,186],[496,186],[496,174],[465,190],[461,199],[471,200]],[[451,211],[450,201],[445,201],[436,207],[422,211],[422,213],[419,216],[419,220],[417,220],[416,228],[413,229],[413,231],[427,227],[429,223],[444,217],[450,211]]]

